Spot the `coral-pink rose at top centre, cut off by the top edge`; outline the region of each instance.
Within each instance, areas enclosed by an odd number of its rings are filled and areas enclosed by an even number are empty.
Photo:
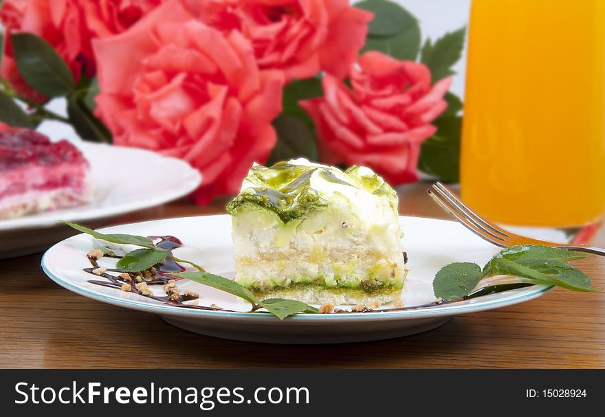
[[[344,78],[366,41],[373,14],[348,0],[182,0],[207,25],[250,39],[261,69],[287,80],[327,71]]]

